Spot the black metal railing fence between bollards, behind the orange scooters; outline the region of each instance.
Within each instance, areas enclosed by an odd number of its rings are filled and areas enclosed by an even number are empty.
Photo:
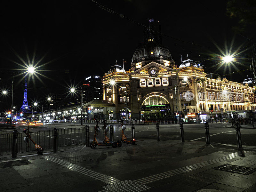
[[[114,124],[114,141],[121,140],[122,129],[121,124]],[[89,126],[89,140],[92,142],[94,136],[95,126]],[[85,144],[85,127],[73,127],[67,129],[58,129],[58,146],[70,146]],[[53,130],[28,132],[31,138],[44,149],[53,148]],[[124,134],[127,138],[132,138],[131,125],[126,125]],[[23,153],[28,151],[35,151],[35,145],[31,140],[28,143],[23,141],[25,134],[23,132],[18,133],[17,138],[17,153]],[[109,137],[109,131],[107,136]],[[0,134],[0,155],[12,154],[12,133]],[[100,133],[96,136],[99,142],[103,142],[105,138],[103,125],[100,126]]]

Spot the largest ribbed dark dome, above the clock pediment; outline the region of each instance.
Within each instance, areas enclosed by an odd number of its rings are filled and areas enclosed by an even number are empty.
[[[165,60],[172,60],[170,51],[161,44],[148,42],[137,48],[132,56],[132,62],[139,62],[144,57],[145,60],[157,60],[163,57]]]

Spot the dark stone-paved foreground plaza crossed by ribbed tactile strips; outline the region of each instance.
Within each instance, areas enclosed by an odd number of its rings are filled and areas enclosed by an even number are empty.
[[[35,153],[15,159],[1,156],[0,191],[256,191],[256,172],[213,169],[223,164],[256,168],[253,149],[138,140],[121,148],[77,146],[42,156]]]

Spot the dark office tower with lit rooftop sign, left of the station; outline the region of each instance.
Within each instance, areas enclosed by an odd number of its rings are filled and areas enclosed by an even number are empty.
[[[84,102],[103,99],[101,80],[102,77],[98,75],[91,75],[85,78],[83,83]]]

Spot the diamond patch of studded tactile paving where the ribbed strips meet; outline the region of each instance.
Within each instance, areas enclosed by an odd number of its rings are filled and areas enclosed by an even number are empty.
[[[150,187],[146,185],[142,185],[136,181],[132,180],[124,180],[117,183],[113,183],[111,185],[103,186],[102,188],[107,189],[108,192],[116,192],[116,191],[122,191],[122,192],[140,192],[150,189]]]

